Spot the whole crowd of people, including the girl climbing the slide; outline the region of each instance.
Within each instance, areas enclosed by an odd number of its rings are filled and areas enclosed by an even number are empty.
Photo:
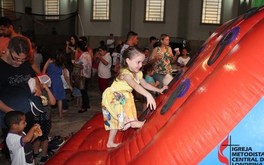
[[[153,45],[156,38],[150,37],[150,44],[144,50],[137,47],[138,34],[132,31],[127,33],[126,41],[118,41],[116,47],[111,33],[107,45],[101,41],[101,46],[93,50],[87,46],[85,36],[78,38],[72,35],[70,41],[66,41],[65,51],[58,49],[55,57],[48,59],[40,71],[39,64],[43,59],[36,51],[36,42],[15,33],[12,21],[6,17],[0,17],[0,35],[0,127],[4,135],[5,156],[13,164],[16,162],[34,164],[34,157],[39,154],[40,144],[42,146],[40,163],[47,161],[47,138],[51,125],[47,107],[57,103],[59,117],[62,118],[69,108],[67,102],[76,97],[75,106],[80,108],[77,113],[86,112],[90,108],[88,83],[91,79],[91,86],[96,86],[94,84],[96,74],[99,91],[102,93],[100,102],[103,111],[102,122],[105,123],[105,129],[110,130],[107,147],[120,145],[113,142],[117,131],[125,131],[129,127],[140,128],[144,125],[144,122],[137,120],[135,97],[132,92],[134,91],[135,96],[138,93],[143,95],[143,111],[148,106],[155,109],[154,98],[168,88],[163,85],[164,76],[172,74],[171,64],[175,63],[180,55],[179,50],[175,56],[173,55],[167,34],[161,34],[155,48]],[[72,73],[67,70],[66,53],[71,54],[74,66]],[[180,68],[189,61],[185,48],[182,49],[182,54],[177,61]],[[115,72],[115,78],[109,87],[111,71]],[[45,73],[50,77],[52,82],[50,88],[47,84],[39,82],[36,73]],[[73,74],[72,82],[70,74]],[[83,88],[76,84],[77,75],[84,77]],[[28,99],[32,95],[27,83],[30,78],[36,81],[33,95],[44,96],[49,103],[45,106],[46,112],[40,113],[39,116],[34,113],[34,107]],[[67,89],[72,92],[68,99]],[[40,137],[34,135],[38,127],[43,132]],[[34,150],[28,145],[30,142],[34,142]],[[9,154],[8,150],[12,152]]]

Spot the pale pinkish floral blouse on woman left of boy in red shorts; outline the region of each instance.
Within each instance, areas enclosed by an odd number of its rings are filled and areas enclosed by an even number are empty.
[[[92,58],[88,52],[83,52],[80,58],[76,61],[78,64],[82,64],[83,67],[83,76],[86,78],[91,78],[91,69],[92,69]]]

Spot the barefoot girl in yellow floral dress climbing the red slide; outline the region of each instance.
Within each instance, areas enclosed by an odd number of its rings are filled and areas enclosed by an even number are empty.
[[[144,122],[137,120],[137,110],[132,95],[135,89],[147,98],[147,106],[156,108],[156,102],[152,95],[145,90],[162,93],[167,86],[158,89],[145,81],[139,69],[145,59],[144,52],[134,46],[128,47],[123,52],[121,66],[111,87],[103,93],[102,109],[105,121],[105,129],[110,130],[107,147],[116,147],[120,143],[114,143],[113,139],[117,131],[125,131],[129,127],[141,128]],[[140,85],[139,85],[140,84]]]

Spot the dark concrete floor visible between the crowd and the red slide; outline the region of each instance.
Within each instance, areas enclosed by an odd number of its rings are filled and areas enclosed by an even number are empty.
[[[112,73],[114,74],[114,73]],[[113,82],[113,76],[109,85]],[[73,105],[76,104],[76,98],[69,103],[69,110],[65,113],[66,116],[59,118],[58,108],[51,108],[51,129],[49,136],[54,137],[55,135],[60,136],[69,136],[72,132],[77,132],[79,129],[88,121],[90,120],[96,113],[102,113],[102,108],[100,107],[100,102],[102,100],[102,94],[98,88],[98,77],[95,77],[94,84],[96,87],[91,87],[91,82],[88,84],[88,96],[90,100],[91,108],[88,109],[87,112],[84,113],[77,113],[78,108],[74,107]],[[70,91],[68,91],[70,92]],[[67,93],[67,98],[70,97],[70,93]],[[138,114],[142,113],[142,105],[143,99],[142,96],[139,94],[139,101],[135,101],[136,108]],[[102,117],[103,122],[103,117]],[[0,135],[2,132],[0,131]],[[0,143],[2,140],[0,139]],[[36,165],[38,165],[39,160],[41,159],[41,153],[35,159]],[[9,165],[8,161],[5,159],[4,155],[0,153],[0,165]]]

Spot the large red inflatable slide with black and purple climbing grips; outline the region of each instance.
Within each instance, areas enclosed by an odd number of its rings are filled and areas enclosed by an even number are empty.
[[[257,105],[264,107],[263,29],[261,7],[230,20],[156,98],[157,108],[146,114],[143,128],[118,132],[114,141],[122,144],[109,149],[109,132],[98,113],[45,165],[236,165],[221,142],[227,139],[226,147],[231,146],[230,135],[245,133],[236,129],[254,130],[255,124],[264,124],[254,118],[262,116],[261,111],[247,116]],[[257,146],[264,138],[254,133],[249,133],[250,141]]]

